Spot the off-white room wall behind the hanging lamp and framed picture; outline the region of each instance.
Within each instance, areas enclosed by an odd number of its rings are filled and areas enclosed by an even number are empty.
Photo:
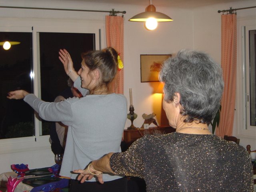
[[[248,1],[252,4],[254,0]],[[124,95],[128,98],[129,88],[133,91],[133,104],[138,118],[134,120],[136,127],[142,126],[142,114],[160,112],[160,99],[153,100],[153,84],[140,82],[140,54],[175,54],[183,48],[196,48],[209,52],[218,62],[220,61],[220,14],[217,10],[228,9],[230,6],[244,7],[244,2],[221,4],[196,10],[177,9],[174,7],[157,7],[157,11],[168,14],[174,21],[160,23],[154,31],[148,31],[143,23],[129,22],[128,19],[145,10],[144,6],[87,3],[62,0],[0,0],[1,6],[34,6],[51,8],[69,8],[86,10],[126,10],[124,15]],[[247,2],[247,1],[246,1]],[[255,2],[255,1],[254,1]],[[242,4],[242,5],[241,5]],[[255,6],[255,5],[248,5]],[[86,22],[104,22],[107,13],[70,12],[51,10],[23,10],[0,8],[0,18],[11,17],[45,19],[84,19]],[[40,21],[40,20],[39,20]],[[74,21],[75,22],[75,21]],[[209,38],[210,37],[210,38]],[[106,42],[103,42],[106,46]],[[156,112],[157,111],[157,112]],[[159,114],[158,119],[159,119]],[[126,127],[130,121],[126,122]],[[254,141],[255,142],[255,141]],[[29,158],[28,158],[29,157]],[[51,166],[54,156],[48,149],[23,153],[0,154],[0,173],[10,171],[10,164],[26,163],[30,168]]]

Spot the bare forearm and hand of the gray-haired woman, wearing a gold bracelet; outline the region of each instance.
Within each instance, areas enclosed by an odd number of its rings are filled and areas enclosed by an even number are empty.
[[[98,181],[103,184],[104,181],[102,179],[102,172],[116,174],[112,171],[109,164],[112,154],[113,153],[108,153],[102,158],[92,161],[92,163],[89,164],[85,170],[74,170],[74,173],[80,173],[78,180],[81,180],[81,183],[83,183],[86,181],[86,179],[90,180],[95,175],[98,178]]]

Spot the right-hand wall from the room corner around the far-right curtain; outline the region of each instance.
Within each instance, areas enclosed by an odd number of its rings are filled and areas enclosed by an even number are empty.
[[[213,6],[207,6],[203,8],[197,8],[194,10],[194,48],[198,50],[204,50],[208,52],[218,63],[221,61],[221,14],[218,10],[228,10],[230,7],[233,9],[256,6],[255,0],[243,0],[230,2],[225,4],[216,4]],[[247,20],[256,17],[256,8],[237,10],[237,21]],[[254,22],[256,24],[256,20]],[[240,30],[240,29],[238,29]],[[240,39],[238,38],[238,41]],[[239,46],[238,42],[238,46]],[[238,58],[239,59],[239,58]],[[238,68],[240,68],[240,62],[238,61]],[[238,71],[239,73],[239,71]],[[241,75],[238,75],[237,82],[242,81]],[[239,87],[237,87],[238,90]],[[236,93],[236,106],[238,109],[238,102],[241,102],[242,98]],[[246,145],[250,144],[252,150],[256,150],[256,138],[248,138],[246,136],[238,135],[238,129],[244,128],[238,126],[238,110],[235,110],[233,136],[240,138],[240,145],[246,148]],[[255,130],[256,131],[256,130]]]

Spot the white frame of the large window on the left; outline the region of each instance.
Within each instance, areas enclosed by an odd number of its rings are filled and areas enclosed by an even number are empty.
[[[0,30],[5,32],[32,32],[32,59],[34,94],[40,95],[40,56],[38,32],[67,32],[67,33],[94,33],[95,48],[100,50],[105,47],[105,23],[86,20],[61,20],[61,19],[24,19],[0,18]],[[35,116],[35,136],[10,138],[0,140],[0,154],[25,152],[39,149],[49,149],[49,135],[40,136],[40,121],[38,114]]]

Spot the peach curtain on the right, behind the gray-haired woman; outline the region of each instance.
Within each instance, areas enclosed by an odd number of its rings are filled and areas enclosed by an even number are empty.
[[[223,70],[224,92],[221,100],[220,124],[216,135],[231,136],[233,131],[236,100],[237,63],[236,14],[221,16],[221,66]]]

